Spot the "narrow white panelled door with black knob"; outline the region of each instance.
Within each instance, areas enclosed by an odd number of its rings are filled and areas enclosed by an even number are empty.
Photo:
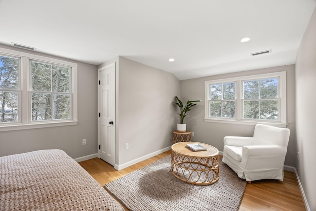
[[[115,165],[115,63],[99,69],[98,88],[98,142],[99,156]]]

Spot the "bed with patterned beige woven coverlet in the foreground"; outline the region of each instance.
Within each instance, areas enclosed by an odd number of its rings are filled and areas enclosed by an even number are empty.
[[[0,210],[110,210],[120,204],[62,150],[0,157]]]

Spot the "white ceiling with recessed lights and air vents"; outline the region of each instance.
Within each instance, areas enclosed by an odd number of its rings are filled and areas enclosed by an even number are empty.
[[[316,0],[0,0],[0,43],[179,80],[294,64]],[[250,37],[249,42],[240,42]],[[272,50],[269,54],[250,53]],[[169,62],[174,58],[174,62]]]

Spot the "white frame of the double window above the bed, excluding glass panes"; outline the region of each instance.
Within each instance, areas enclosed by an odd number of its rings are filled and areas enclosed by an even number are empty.
[[[50,58],[46,56],[40,56],[36,54],[10,50],[0,47],[0,53],[6,56],[19,58],[19,79],[18,79],[18,111],[19,119],[18,122],[14,123],[1,123],[0,131],[10,131],[19,129],[33,129],[43,127],[59,127],[59,126],[71,126],[78,124],[78,64]],[[62,120],[49,120],[49,121],[30,121],[31,120],[31,61],[38,61],[43,63],[56,64],[61,66],[67,66],[71,68],[71,118]],[[23,105],[23,106],[22,106]]]

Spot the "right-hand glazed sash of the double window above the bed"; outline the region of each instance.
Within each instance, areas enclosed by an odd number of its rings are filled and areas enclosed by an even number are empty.
[[[31,61],[32,121],[70,119],[70,67]]]

